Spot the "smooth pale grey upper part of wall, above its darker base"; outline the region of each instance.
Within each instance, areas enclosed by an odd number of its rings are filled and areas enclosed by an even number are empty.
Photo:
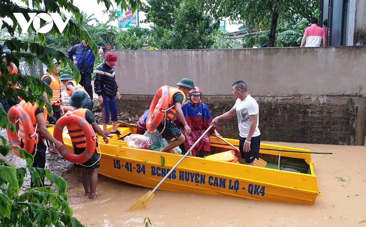
[[[155,94],[183,77],[205,95],[231,94],[244,80],[252,95],[365,95],[366,47],[224,50],[119,50],[116,77],[123,94]]]

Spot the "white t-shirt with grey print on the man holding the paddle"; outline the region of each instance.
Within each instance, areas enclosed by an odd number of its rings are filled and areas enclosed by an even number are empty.
[[[244,99],[244,101],[240,101],[240,99],[236,99],[236,102],[233,107],[236,110],[236,115],[238,116],[238,128],[239,128],[239,136],[246,138],[249,133],[250,128],[250,115],[258,114],[257,116],[257,125],[255,126],[255,131],[253,137],[261,135],[259,131],[259,106],[257,101],[250,95]]]

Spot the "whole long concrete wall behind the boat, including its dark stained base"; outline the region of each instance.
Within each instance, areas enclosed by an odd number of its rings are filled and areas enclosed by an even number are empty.
[[[114,51],[122,101],[141,115],[156,90],[194,80],[218,116],[234,105],[231,85],[244,80],[259,103],[262,140],[365,144],[366,46],[236,50]],[[236,118],[219,122],[236,138]]]

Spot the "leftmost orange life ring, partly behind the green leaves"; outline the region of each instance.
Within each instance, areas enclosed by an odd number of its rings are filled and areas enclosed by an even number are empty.
[[[16,135],[16,132],[12,133],[8,126],[6,129],[7,129],[7,134],[8,134],[10,145],[14,146],[14,147],[19,147],[20,149],[24,149],[28,153],[32,154],[33,149],[34,149],[34,137],[30,137],[30,136],[34,133],[34,129],[33,129],[33,124],[32,124],[31,118],[30,118],[29,114],[27,113],[27,111],[19,105],[12,106],[8,111],[8,118],[14,124],[15,124],[16,117],[18,117],[20,120],[22,120],[26,138],[25,138],[25,141],[23,141],[24,147],[23,148],[20,147],[20,141],[18,140],[18,136]],[[19,154],[19,152],[15,150],[14,147],[13,147],[14,153],[16,155],[18,155],[20,158],[23,158],[23,156],[21,156]]]

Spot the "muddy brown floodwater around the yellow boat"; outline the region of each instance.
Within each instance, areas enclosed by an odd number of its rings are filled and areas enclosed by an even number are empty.
[[[358,224],[366,219],[366,147],[267,143],[333,152],[332,155],[311,156],[318,188],[322,192],[314,205],[158,190],[146,209],[127,212],[149,189],[99,175],[98,198],[89,200],[83,196],[80,170],[75,170],[60,155],[48,154],[47,169],[66,179],[74,216],[87,227],[145,226],[145,217],[150,218],[153,226],[167,227],[366,227],[366,223]],[[17,166],[25,166],[25,162],[18,157],[7,156],[7,159],[10,158]],[[349,182],[337,179],[345,176]],[[29,186],[29,181],[25,184]]]

